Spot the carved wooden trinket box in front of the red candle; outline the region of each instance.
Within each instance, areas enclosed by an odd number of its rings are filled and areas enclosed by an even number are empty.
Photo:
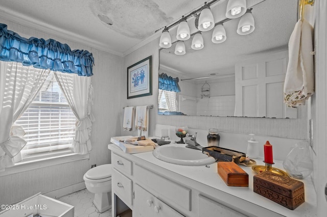
[[[253,176],[253,192],[292,210],[305,202],[303,182],[269,171]]]

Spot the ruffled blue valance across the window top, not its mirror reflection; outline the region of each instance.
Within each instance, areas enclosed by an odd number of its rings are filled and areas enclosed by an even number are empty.
[[[26,39],[7,30],[3,23],[0,23],[0,60],[80,76],[93,75],[94,58],[87,50],[71,50],[67,44],[54,39]]]

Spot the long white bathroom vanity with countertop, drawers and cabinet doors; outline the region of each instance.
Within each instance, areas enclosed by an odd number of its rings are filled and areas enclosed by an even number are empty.
[[[180,144],[183,146],[184,144]],[[157,159],[152,151],[128,154],[109,144],[112,164],[112,216],[117,197],[133,216],[317,216],[316,194],[310,178],[305,183],[306,202],[287,209],[253,192],[251,167],[248,187],[227,186],[217,173],[217,163],[181,166]],[[197,150],[195,150],[197,151]],[[262,158],[256,159],[261,164]],[[282,162],[274,167],[283,168]]]

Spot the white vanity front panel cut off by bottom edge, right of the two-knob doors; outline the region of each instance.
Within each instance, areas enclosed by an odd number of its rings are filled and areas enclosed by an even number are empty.
[[[228,216],[241,217],[246,216],[236,210],[224,206],[216,201],[199,195],[199,217],[203,216]]]

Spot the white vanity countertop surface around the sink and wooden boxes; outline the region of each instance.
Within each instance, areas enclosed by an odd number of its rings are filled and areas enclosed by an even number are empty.
[[[171,144],[171,145],[176,145],[176,144]],[[183,144],[178,144],[178,145],[183,145]],[[108,148],[114,152],[118,152],[118,153],[122,152],[122,150],[114,144],[109,144]],[[153,156],[152,151],[136,153],[132,155],[139,159],[143,159],[147,162],[150,162],[153,165],[164,168],[166,170],[187,177],[189,179],[195,180],[204,185],[218,189],[219,191],[238,197],[242,200],[246,200],[250,203],[264,207],[266,209],[269,209],[273,212],[276,212],[284,216],[294,216],[294,217],[317,216],[316,193],[311,177],[299,180],[305,184],[305,203],[298,206],[295,210],[290,210],[282,205],[279,205],[253,192],[253,175],[255,175],[256,173],[252,171],[251,167],[245,167],[240,165],[240,167],[249,174],[249,186],[234,187],[234,186],[227,186],[223,181],[223,179],[219,176],[219,174],[217,173],[217,163],[209,165],[210,166],[209,168],[206,166],[181,166],[181,165],[170,164],[168,162],[157,159],[156,157]],[[257,158],[255,159],[255,161],[257,165],[264,165],[263,158]],[[281,161],[275,161],[273,167],[284,170]]]

